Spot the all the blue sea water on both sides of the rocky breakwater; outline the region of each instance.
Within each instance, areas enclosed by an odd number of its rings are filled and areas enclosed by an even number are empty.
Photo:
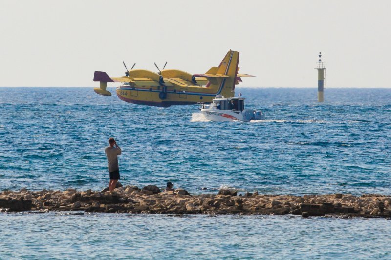
[[[109,89],[115,93],[115,89]],[[0,191],[121,182],[193,194],[391,194],[391,90],[239,88],[264,121],[210,122],[196,105],[133,105],[90,88],[0,88]],[[202,190],[206,188],[206,190]],[[0,258],[389,258],[383,219],[0,214]]]

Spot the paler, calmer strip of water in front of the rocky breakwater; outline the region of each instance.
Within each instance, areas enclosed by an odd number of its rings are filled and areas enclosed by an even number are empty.
[[[390,259],[384,219],[1,214],[1,258]],[[9,229],[10,228],[10,229]]]

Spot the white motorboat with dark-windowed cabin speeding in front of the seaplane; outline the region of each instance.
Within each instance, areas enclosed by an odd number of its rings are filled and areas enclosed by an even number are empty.
[[[244,109],[244,100],[242,97],[217,95],[210,105],[199,103],[199,109],[206,119],[215,122],[265,120],[262,111]]]

